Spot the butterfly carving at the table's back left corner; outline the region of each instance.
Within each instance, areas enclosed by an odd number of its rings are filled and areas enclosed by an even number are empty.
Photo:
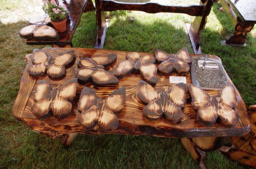
[[[35,49],[31,55],[33,66],[29,67],[27,72],[32,76],[39,77],[47,70],[48,76],[57,79],[65,74],[65,66],[69,65],[73,58],[74,50],[67,50],[53,58],[43,50]]]

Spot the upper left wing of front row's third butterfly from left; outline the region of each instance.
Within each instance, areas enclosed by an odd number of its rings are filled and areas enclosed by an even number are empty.
[[[158,94],[151,85],[149,85],[145,81],[139,81],[138,97],[144,104],[148,104],[157,99]]]

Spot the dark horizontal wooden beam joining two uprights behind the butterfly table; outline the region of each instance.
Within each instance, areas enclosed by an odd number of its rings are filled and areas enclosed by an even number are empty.
[[[144,11],[146,13],[185,13],[190,16],[201,16],[203,6],[201,5],[188,5],[188,6],[175,6],[175,5],[162,5],[156,2],[145,3],[129,3],[117,2],[115,0],[102,0],[104,11]]]

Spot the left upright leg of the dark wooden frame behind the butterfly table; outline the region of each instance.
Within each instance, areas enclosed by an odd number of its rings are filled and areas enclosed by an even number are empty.
[[[94,48],[102,49],[108,27],[108,20],[105,18],[102,0],[95,0],[96,6],[96,22],[98,25],[98,36]]]

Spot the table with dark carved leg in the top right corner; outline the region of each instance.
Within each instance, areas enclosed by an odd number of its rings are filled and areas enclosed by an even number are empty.
[[[256,23],[256,1],[255,0],[219,0],[223,11],[231,18],[235,25],[234,33],[225,41],[223,45],[243,46],[245,37]]]

